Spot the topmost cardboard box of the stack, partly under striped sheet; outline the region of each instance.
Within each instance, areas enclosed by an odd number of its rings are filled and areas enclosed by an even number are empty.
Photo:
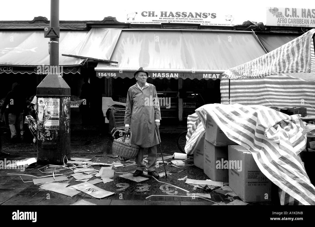
[[[205,139],[207,139],[215,146],[227,146],[236,144],[235,142],[227,138],[227,136],[224,134],[224,132],[222,132],[222,130],[218,127],[218,125],[209,114],[207,114],[206,119]]]

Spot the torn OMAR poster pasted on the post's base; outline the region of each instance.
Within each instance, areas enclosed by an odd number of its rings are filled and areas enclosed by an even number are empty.
[[[45,129],[59,129],[60,99],[38,98],[38,121],[44,122]]]

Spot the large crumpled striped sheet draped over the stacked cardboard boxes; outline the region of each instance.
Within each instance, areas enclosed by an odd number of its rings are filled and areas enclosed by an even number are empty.
[[[299,155],[306,147],[299,115],[239,104],[203,105],[196,113],[201,119],[205,113],[212,116],[229,139],[250,150],[261,172],[281,190],[304,205],[315,205],[315,187]]]

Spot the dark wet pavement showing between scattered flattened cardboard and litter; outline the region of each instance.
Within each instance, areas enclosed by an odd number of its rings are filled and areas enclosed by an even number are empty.
[[[176,145],[176,138],[179,133],[163,133],[161,132],[162,151],[163,156],[173,155],[174,152],[180,152]],[[7,135],[4,134],[3,137]],[[20,144],[11,144],[7,138],[4,138],[3,145],[6,152],[11,153],[9,156],[0,156],[0,160],[6,162],[8,160],[22,160],[25,158],[37,157],[36,145],[22,142]],[[93,162],[117,162],[117,158],[110,157],[111,145],[113,138],[106,132],[101,130],[92,131],[72,131],[71,141],[88,141],[86,145],[71,145],[71,157],[89,157]],[[160,149],[157,149],[158,156]],[[145,150],[145,155],[147,150]],[[170,162],[171,158],[166,161]],[[122,162],[123,164],[129,164],[130,162]],[[193,158],[185,161],[186,164],[193,164]],[[157,180],[147,177],[148,180],[142,182],[135,182],[129,179],[119,177],[123,173],[131,173],[136,169],[135,165],[129,165],[125,167],[113,168],[115,171],[114,181],[104,184],[103,182],[95,184],[95,186],[104,189],[106,191],[114,192],[112,196],[108,196],[104,199],[95,199],[83,192],[76,196],[70,197],[60,193],[43,190],[39,188],[39,185],[34,185],[32,176],[22,176],[22,179],[18,175],[9,175],[8,173],[20,173],[29,174],[33,176],[45,176],[52,173],[41,173],[38,168],[47,164],[36,163],[34,167],[28,167],[25,171],[21,172],[20,169],[0,169],[0,204],[2,205],[70,205],[74,202],[84,199],[98,205],[212,205],[214,203],[229,203],[228,196],[220,193],[203,190],[200,188],[194,188],[189,184],[185,184],[185,181],[179,181],[178,179],[187,176],[189,179],[206,180],[209,179],[203,170],[195,166],[185,166],[183,169],[166,165],[166,171],[172,173],[168,178],[158,179],[159,181],[173,184],[177,187],[190,191],[192,193],[209,193],[211,195],[211,201],[206,201],[201,198],[188,198],[188,197],[176,197],[186,196],[186,191],[172,187],[167,184],[158,182]],[[94,167],[99,170],[100,167]],[[118,172],[118,173],[117,173]],[[163,166],[156,168],[156,172],[163,173]],[[58,173],[62,173],[69,176],[71,170],[62,170]],[[70,185],[78,184],[73,177],[68,177],[69,180],[62,181],[61,183],[69,183]],[[100,179],[93,176],[93,179]],[[24,182],[23,182],[24,181]],[[31,182],[29,182],[31,181]],[[152,196],[151,195],[162,195]],[[48,199],[49,198],[49,199]],[[239,199],[234,197],[234,199]],[[272,205],[272,203],[253,203],[255,205]]]

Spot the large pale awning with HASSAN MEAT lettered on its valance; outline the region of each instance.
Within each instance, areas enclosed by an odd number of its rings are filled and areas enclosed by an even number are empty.
[[[110,58],[118,63],[100,62],[95,71],[100,78],[134,78],[143,67],[153,78],[215,80],[263,54],[251,32],[126,29]]]

